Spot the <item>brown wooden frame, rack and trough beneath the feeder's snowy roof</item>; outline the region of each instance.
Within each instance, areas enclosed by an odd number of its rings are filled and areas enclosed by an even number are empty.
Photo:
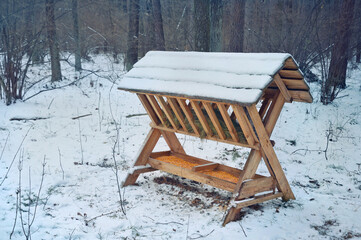
[[[223,225],[234,220],[244,207],[278,197],[295,199],[270,136],[285,102],[312,102],[312,96],[291,56],[284,57],[275,72],[257,101],[246,103],[120,86],[137,94],[151,119],[151,130],[134,164],[150,166],[136,168],[123,186],[135,184],[142,173],[162,170],[229,191],[233,204]],[[260,108],[256,107],[258,102]],[[206,161],[187,155],[175,133],[247,147],[250,154],[242,170]],[[161,136],[170,151],[153,152]],[[256,174],[261,159],[269,177]]]

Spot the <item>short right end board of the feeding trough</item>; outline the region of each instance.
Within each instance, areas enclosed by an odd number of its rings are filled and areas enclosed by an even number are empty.
[[[253,179],[242,184],[240,194],[237,196],[236,200],[248,198],[257,193],[274,191],[275,187],[276,181],[273,177]]]

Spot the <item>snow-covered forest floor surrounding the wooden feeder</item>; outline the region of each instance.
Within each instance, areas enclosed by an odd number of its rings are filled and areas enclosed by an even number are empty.
[[[93,60],[84,64],[91,74],[63,65],[66,79],[57,86],[78,78],[73,85],[0,103],[0,239],[25,239],[29,222],[32,239],[361,239],[360,69],[350,71],[333,104],[323,106],[312,83],[314,103],[286,104],[282,111],[272,139],[296,200],[244,209],[240,221],[222,227],[229,194],[161,172],[121,190],[122,213],[113,156],[122,181],[150,120],[134,94],[116,89],[123,66],[104,55]],[[49,75],[48,66],[31,71],[33,81]],[[53,87],[44,85],[25,98]],[[72,119],[77,116],[83,117]],[[179,137],[188,154],[234,167],[248,154]],[[156,149],[166,150],[165,142]]]

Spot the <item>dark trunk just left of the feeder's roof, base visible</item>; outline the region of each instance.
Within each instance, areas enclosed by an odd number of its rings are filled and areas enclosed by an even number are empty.
[[[138,61],[139,0],[131,0],[129,5],[128,47],[125,58],[127,71]]]

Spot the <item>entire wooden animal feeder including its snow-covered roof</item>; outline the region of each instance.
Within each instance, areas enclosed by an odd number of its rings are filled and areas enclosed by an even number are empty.
[[[229,191],[223,225],[244,207],[295,199],[270,140],[285,102],[312,102],[289,54],[149,52],[119,89],[136,93],[151,119],[134,164],[150,167],[134,170],[123,186],[162,170]],[[175,133],[247,147],[250,154],[243,169],[206,161],[187,155]],[[161,136],[170,151],[152,152]],[[270,177],[256,174],[262,159]]]

